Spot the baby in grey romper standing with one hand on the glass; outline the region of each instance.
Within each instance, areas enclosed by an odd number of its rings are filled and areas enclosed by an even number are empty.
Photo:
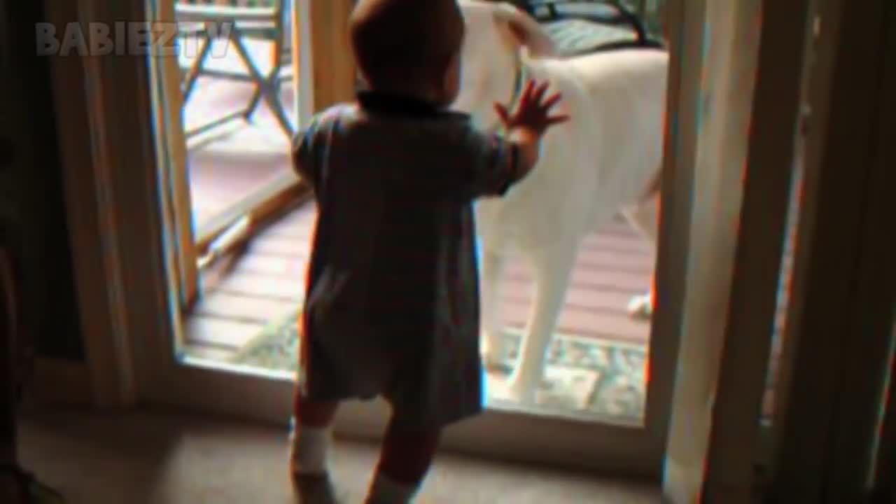
[[[290,471],[328,481],[340,401],[382,396],[392,419],[366,502],[414,496],[444,426],[482,409],[473,201],[502,196],[567,119],[529,82],[495,104],[503,135],[448,111],[464,22],[454,0],[360,0],[354,57],[367,91],[297,135],[293,162],[314,190]]]

